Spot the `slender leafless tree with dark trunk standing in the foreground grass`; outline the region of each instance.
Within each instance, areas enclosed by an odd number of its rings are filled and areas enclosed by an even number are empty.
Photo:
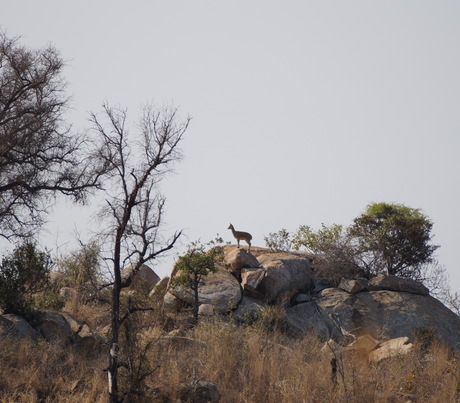
[[[110,174],[106,187],[105,214],[109,218],[106,235],[111,241],[108,258],[114,281],[112,288],[111,350],[109,355],[109,393],[119,401],[118,369],[120,326],[129,315],[143,308],[120,306],[120,292],[129,286],[142,264],[171,249],[181,235],[176,232],[166,242],[160,239],[165,199],[158,183],[172,165],[180,160],[179,143],[190,118],[178,123],[177,109],[158,111],[148,106],[143,111],[139,135],[132,137],[126,127],[126,110],[103,106],[102,116],[92,114],[99,135],[99,164]],[[160,246],[159,246],[160,245]],[[121,270],[131,265],[131,276],[122,278]]]

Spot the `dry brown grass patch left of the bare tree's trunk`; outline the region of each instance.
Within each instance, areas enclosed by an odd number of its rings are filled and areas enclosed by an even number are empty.
[[[0,340],[2,402],[105,402],[100,357],[46,342]]]

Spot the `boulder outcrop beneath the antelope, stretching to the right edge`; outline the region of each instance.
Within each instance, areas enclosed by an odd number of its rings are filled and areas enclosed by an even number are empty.
[[[460,349],[460,317],[429,295],[422,284],[395,276],[343,279],[338,287],[316,278],[311,256],[263,248],[225,247],[224,262],[199,290],[200,314],[232,313],[244,321],[267,304],[281,304],[293,336],[316,334],[348,344],[360,336],[380,341],[431,334]],[[167,311],[192,304],[191,293],[169,288]]]

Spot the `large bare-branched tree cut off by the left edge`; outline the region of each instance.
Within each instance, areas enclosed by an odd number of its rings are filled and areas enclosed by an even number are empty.
[[[29,235],[57,193],[84,201],[98,187],[86,139],[63,122],[63,61],[0,32],[0,236]],[[86,155],[86,157],[85,157]]]

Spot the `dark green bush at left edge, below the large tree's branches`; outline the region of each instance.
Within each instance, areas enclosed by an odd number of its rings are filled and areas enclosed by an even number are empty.
[[[49,255],[30,241],[4,257],[0,264],[0,308],[4,313],[30,315],[32,295],[46,288],[50,268]]]

